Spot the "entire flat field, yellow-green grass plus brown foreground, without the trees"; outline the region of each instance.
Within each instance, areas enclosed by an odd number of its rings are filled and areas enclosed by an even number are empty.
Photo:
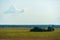
[[[53,32],[29,32],[30,28],[0,28],[0,40],[60,40],[60,28]]]

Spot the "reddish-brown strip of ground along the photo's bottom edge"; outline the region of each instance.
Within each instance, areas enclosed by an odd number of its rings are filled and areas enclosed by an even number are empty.
[[[16,36],[16,37],[7,37],[0,36],[0,40],[60,40],[59,37],[29,37],[29,36]]]

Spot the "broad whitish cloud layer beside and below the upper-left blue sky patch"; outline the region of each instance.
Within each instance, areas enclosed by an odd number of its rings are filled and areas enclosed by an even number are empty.
[[[13,0],[18,11],[23,13],[3,14],[3,23],[7,24],[58,24],[60,3],[54,0]],[[3,10],[5,10],[4,8]],[[17,11],[17,12],[18,12]]]

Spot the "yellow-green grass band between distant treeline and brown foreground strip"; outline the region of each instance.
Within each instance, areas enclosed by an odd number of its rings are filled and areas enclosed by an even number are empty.
[[[21,28],[1,28],[0,36],[41,36],[41,37],[60,37],[60,28],[56,28],[54,32],[29,32],[30,29]]]

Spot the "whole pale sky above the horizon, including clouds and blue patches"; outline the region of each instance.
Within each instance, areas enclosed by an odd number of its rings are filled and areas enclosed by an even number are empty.
[[[60,24],[59,10],[60,0],[0,0],[0,24]]]

